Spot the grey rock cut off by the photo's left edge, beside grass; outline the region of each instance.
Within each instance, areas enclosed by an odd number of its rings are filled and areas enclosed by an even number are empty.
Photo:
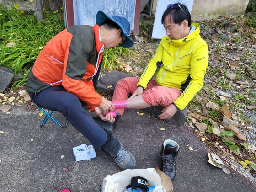
[[[0,67],[0,93],[5,92],[13,80],[14,73],[11,69]]]

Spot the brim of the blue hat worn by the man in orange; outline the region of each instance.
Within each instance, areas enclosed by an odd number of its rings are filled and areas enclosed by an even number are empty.
[[[112,19],[111,16],[108,16],[106,13],[103,11],[98,11],[96,15],[96,24],[101,25],[104,21],[110,19],[111,21],[115,22],[120,29],[122,30],[123,36],[125,37],[125,40],[123,41],[122,47],[124,48],[130,48],[134,45],[134,41],[129,37],[127,33],[125,33],[125,30],[123,29],[122,25],[114,19]]]

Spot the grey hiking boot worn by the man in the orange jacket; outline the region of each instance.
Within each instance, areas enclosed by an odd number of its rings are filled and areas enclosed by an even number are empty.
[[[133,154],[130,151],[123,149],[123,147],[121,147],[114,160],[122,169],[134,169],[136,166],[136,160]]]

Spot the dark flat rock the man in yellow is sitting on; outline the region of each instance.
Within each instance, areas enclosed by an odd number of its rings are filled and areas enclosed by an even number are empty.
[[[123,79],[125,77],[132,77],[133,75],[129,75],[126,73],[118,72],[118,71],[110,71],[108,74],[100,75],[100,80],[97,84],[97,89],[106,93],[107,95],[113,95],[115,86],[117,85],[117,81]],[[110,88],[107,88],[109,86]],[[145,112],[148,112],[155,117],[161,114],[163,110],[162,106],[148,107],[143,109]],[[181,111],[177,111],[171,119],[166,119],[168,123],[173,123],[175,125],[183,126],[185,124],[185,119],[187,115],[187,109],[183,109]]]

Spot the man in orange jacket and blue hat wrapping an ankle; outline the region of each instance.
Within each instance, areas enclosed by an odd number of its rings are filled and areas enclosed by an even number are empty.
[[[111,101],[95,91],[104,49],[131,47],[130,24],[121,16],[96,15],[96,25],[69,27],[54,36],[39,53],[27,81],[27,91],[39,107],[61,112],[88,139],[94,148],[111,155],[118,166],[132,169],[136,165],[131,152],[107,134],[85,112],[80,100],[94,110],[113,111]],[[111,115],[100,116],[113,121]]]

